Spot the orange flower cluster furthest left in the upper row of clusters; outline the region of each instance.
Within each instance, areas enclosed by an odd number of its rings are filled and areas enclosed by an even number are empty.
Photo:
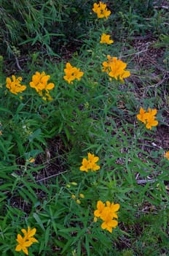
[[[15,75],[12,75],[12,80],[10,78],[6,79],[6,87],[9,89],[12,94],[18,94],[19,92],[23,92],[26,89],[26,86],[22,86],[20,82],[23,80],[23,78],[19,77],[16,78]]]

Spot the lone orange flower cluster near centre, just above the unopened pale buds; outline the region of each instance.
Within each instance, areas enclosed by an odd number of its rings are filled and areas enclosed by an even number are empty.
[[[82,166],[80,167],[80,170],[87,173],[89,170],[92,170],[92,171],[99,170],[100,166],[96,165],[96,162],[98,162],[99,157],[95,157],[94,154],[90,154],[90,153],[88,153],[87,156],[88,156],[88,159],[84,158],[82,160]]]

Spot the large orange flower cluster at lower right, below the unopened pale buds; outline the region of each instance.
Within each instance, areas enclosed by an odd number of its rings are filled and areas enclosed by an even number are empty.
[[[117,211],[119,210],[119,203],[110,203],[109,201],[106,201],[103,203],[101,200],[97,203],[97,210],[94,211],[94,222],[97,222],[98,217],[103,220],[103,223],[101,225],[101,228],[103,230],[108,230],[110,233],[112,233],[112,227],[117,227]]]

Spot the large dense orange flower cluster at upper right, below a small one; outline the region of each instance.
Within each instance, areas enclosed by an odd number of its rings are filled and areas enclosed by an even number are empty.
[[[103,72],[107,72],[111,78],[124,82],[123,78],[130,76],[130,71],[126,71],[127,64],[117,57],[107,56],[108,61],[103,61]]]

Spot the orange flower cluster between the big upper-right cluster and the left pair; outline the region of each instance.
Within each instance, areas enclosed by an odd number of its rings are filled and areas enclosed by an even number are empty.
[[[80,71],[76,67],[71,66],[68,62],[66,63],[66,69],[64,69],[65,76],[63,77],[68,83],[71,83],[74,79],[80,80],[84,72]]]

